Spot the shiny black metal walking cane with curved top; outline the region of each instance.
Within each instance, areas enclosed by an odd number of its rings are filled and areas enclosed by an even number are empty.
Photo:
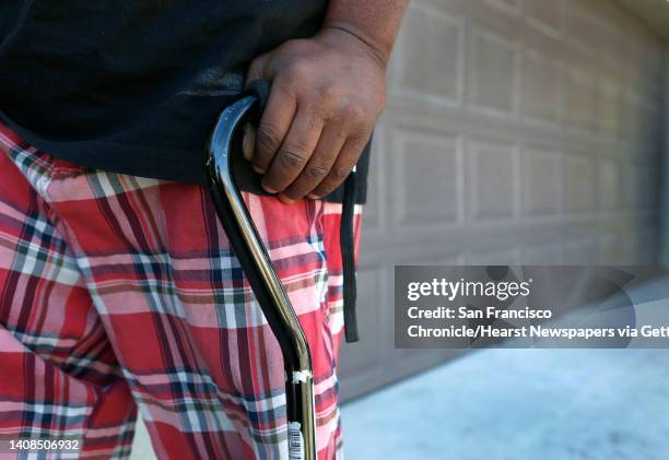
[[[262,91],[269,91],[265,87]],[[281,280],[258,235],[235,181],[242,157],[240,128],[259,118],[260,99],[248,94],[230,105],[216,121],[207,158],[208,182],[219,220],[251,290],[277,337],[285,369],[290,460],[316,460],[315,403],[312,357]],[[243,161],[243,160],[242,160]]]

